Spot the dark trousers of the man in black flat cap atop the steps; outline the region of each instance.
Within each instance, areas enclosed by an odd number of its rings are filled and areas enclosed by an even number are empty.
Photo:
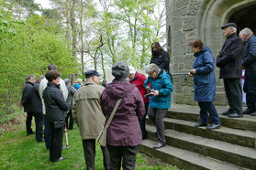
[[[228,78],[224,79],[224,88],[228,98],[228,112],[242,113],[242,90],[240,79]]]

